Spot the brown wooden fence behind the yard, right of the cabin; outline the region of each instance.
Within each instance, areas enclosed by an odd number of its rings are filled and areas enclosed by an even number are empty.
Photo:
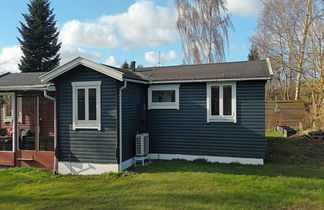
[[[295,129],[310,128],[311,118],[307,104],[302,101],[267,101],[266,129],[273,129],[277,125],[286,125]]]

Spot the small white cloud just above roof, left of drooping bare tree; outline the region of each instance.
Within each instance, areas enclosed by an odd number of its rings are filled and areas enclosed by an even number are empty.
[[[159,53],[159,52],[146,52],[144,55],[144,59],[146,62],[150,63],[151,65],[158,65],[159,63],[169,64],[172,61],[176,60],[178,55],[175,51],[171,50],[168,53]]]

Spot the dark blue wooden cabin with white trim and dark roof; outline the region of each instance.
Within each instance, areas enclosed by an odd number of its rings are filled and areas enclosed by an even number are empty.
[[[263,164],[268,60],[119,69],[76,58],[42,75],[56,87],[59,173],[132,166],[135,136],[152,159]]]

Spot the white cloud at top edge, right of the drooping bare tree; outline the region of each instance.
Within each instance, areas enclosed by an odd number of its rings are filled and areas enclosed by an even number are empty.
[[[261,0],[227,0],[229,12],[242,17],[258,15],[261,6]]]

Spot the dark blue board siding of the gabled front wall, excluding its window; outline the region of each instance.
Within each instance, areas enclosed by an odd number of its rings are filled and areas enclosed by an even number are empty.
[[[101,130],[72,129],[71,82],[102,81]],[[84,66],[57,79],[59,161],[117,163],[117,82]],[[69,158],[70,155],[70,158]]]

